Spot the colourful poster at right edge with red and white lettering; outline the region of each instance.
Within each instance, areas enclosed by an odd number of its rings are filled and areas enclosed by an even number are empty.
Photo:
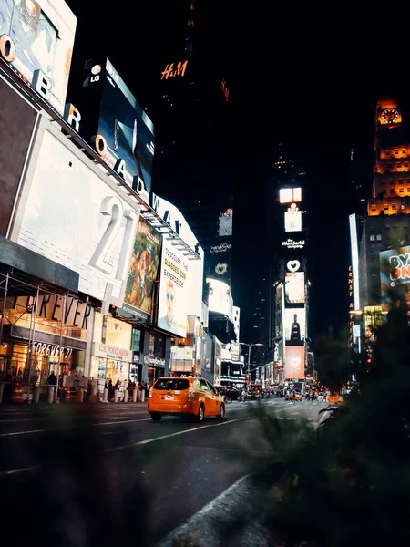
[[[402,299],[410,313],[410,247],[388,249],[379,256],[382,311]]]

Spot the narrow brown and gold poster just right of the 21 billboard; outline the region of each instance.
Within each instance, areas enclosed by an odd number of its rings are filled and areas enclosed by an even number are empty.
[[[162,236],[142,217],[129,264],[124,304],[119,315],[149,323],[152,292],[159,269]]]

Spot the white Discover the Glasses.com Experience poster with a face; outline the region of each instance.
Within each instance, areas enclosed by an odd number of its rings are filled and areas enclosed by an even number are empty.
[[[187,335],[189,261],[172,243],[162,242],[157,325],[172,335]]]

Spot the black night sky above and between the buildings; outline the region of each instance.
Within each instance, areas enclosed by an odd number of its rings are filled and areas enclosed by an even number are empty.
[[[187,2],[110,3],[106,10],[94,0],[67,4],[79,19],[75,58],[86,47],[105,52],[145,106],[164,59],[183,51]],[[203,70],[213,63],[225,67],[231,89],[234,226],[241,247],[232,292],[241,306],[243,339],[253,342],[250,286],[263,274],[271,229],[264,222],[269,203],[261,196],[272,185],[273,144],[283,137],[306,160],[311,336],[329,325],[338,329],[347,320],[350,150],[370,191],[377,96],[395,92],[387,84],[399,83],[404,94],[409,88],[405,37],[378,32],[380,22],[353,5],[340,12],[312,4],[305,11],[272,2],[206,5]]]

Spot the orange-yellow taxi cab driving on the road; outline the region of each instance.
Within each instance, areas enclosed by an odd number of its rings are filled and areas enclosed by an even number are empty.
[[[225,403],[215,387],[200,377],[161,377],[149,389],[149,415],[154,421],[163,416],[190,415],[203,421],[215,416],[223,419]]]

